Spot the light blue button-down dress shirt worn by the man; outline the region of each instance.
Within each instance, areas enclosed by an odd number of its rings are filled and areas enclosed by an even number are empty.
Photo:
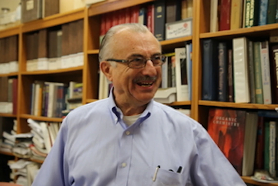
[[[245,185],[199,123],[152,100],[127,127],[112,95],[69,113],[33,186]]]

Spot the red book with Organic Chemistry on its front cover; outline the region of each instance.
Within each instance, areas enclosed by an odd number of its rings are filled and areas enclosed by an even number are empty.
[[[209,110],[208,132],[240,175],[242,175],[245,118],[245,111]]]

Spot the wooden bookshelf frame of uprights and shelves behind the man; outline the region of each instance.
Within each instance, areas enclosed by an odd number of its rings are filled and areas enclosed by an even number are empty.
[[[140,5],[154,0],[107,0],[105,2],[93,4],[90,8],[81,8],[68,13],[56,14],[44,19],[24,23],[13,28],[0,31],[0,38],[8,36],[19,36],[18,61],[19,72],[0,74],[0,77],[18,77],[18,109],[14,114],[0,114],[0,117],[16,118],[18,120],[18,133],[28,132],[30,128],[27,119],[38,121],[62,122],[61,118],[48,118],[43,116],[33,116],[30,110],[30,86],[35,80],[69,82],[78,80],[83,82],[82,103],[90,103],[98,100],[98,53],[101,14],[108,13],[123,8]],[[193,1],[193,35],[161,41],[163,51],[173,51],[175,47],[184,46],[186,41],[192,41],[192,100],[185,102],[174,102],[170,106],[190,106],[191,117],[198,122],[207,124],[209,107],[229,107],[239,109],[274,110],[278,104],[238,104],[232,102],[204,101],[202,95],[202,39],[231,39],[239,36],[271,36],[276,35],[278,23],[264,26],[254,26],[251,28],[240,28],[236,30],[226,30],[209,32],[210,27],[210,1]],[[26,34],[43,28],[59,26],[72,21],[84,20],[83,26],[83,53],[84,65],[79,67],[64,68],[58,70],[36,70],[26,71]],[[12,153],[0,152],[0,154],[13,156]],[[42,163],[31,159],[31,161]],[[246,183],[256,185],[278,185],[254,182],[250,177],[242,177]]]

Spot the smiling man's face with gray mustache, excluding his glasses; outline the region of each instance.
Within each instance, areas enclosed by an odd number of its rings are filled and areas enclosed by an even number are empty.
[[[151,33],[124,30],[113,36],[113,58],[130,60],[134,57],[151,58],[161,54],[158,41]],[[116,100],[139,105],[147,104],[155,95],[161,82],[161,66],[148,60],[144,68],[134,69],[126,63],[111,68],[111,79]]]

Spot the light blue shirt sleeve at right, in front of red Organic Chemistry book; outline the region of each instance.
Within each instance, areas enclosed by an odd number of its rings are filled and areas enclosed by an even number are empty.
[[[193,185],[246,186],[229,160],[200,124],[197,124],[194,136],[197,153],[190,170]]]

